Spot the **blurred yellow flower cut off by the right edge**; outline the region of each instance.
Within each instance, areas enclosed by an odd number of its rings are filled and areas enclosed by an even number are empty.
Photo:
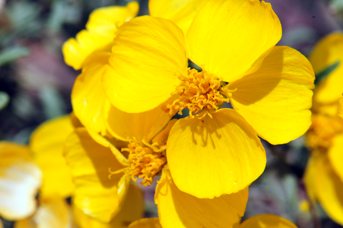
[[[343,34],[320,40],[309,57],[315,72],[342,62],[342,51]],[[326,213],[343,225],[343,120],[338,116],[342,74],[343,65],[339,64],[314,91],[312,126],[306,133],[311,156],[304,182],[310,199],[318,200]]]

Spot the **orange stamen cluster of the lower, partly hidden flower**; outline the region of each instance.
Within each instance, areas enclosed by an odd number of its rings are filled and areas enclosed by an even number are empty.
[[[167,163],[165,145],[158,143],[148,144],[144,140],[140,143],[136,139],[130,140],[128,148],[123,148],[122,152],[128,152],[129,168],[125,171],[135,182],[138,178],[143,178],[141,184],[150,185],[154,177],[161,171]]]

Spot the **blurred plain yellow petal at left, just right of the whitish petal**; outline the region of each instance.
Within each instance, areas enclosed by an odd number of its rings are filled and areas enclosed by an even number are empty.
[[[63,156],[63,146],[73,133],[70,116],[47,121],[37,127],[30,138],[34,161],[43,172],[42,196],[70,197],[73,181],[70,169]]]

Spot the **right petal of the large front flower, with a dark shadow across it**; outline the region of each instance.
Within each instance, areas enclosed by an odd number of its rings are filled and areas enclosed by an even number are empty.
[[[229,89],[232,105],[271,144],[284,144],[303,135],[311,125],[313,81],[311,64],[298,51],[278,46],[255,73]]]

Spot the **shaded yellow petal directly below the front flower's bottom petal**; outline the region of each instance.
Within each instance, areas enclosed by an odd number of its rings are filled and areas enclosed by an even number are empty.
[[[198,188],[202,186],[198,185]],[[163,170],[155,193],[163,228],[230,227],[244,215],[247,198],[247,188],[214,199],[196,198],[180,191],[166,169]]]

